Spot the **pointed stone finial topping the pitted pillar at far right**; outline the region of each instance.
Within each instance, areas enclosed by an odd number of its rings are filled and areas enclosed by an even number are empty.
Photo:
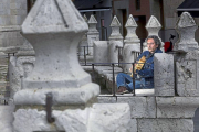
[[[198,25],[190,13],[184,12],[176,25],[176,30],[179,33],[179,41],[175,44],[175,51],[190,52],[198,50],[198,43],[195,40],[197,29]]]

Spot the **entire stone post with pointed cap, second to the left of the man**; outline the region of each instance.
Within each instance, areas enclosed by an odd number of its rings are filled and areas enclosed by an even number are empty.
[[[112,28],[112,34],[109,36],[109,62],[111,63],[118,63],[118,48],[117,47],[123,47],[123,36],[119,32],[121,23],[115,15],[112,20],[111,23]],[[122,50],[121,50],[122,53]]]

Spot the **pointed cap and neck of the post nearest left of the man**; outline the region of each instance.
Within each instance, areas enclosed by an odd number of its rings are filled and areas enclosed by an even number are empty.
[[[130,42],[139,43],[140,41],[138,40],[138,37],[136,35],[137,23],[134,20],[132,14],[128,18],[125,28],[127,30],[127,35],[125,37],[125,43],[130,43]]]

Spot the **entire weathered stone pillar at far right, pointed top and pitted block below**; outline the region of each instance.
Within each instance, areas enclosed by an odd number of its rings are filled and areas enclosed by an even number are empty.
[[[199,52],[195,40],[198,29],[195,20],[188,12],[184,12],[178,20],[177,31],[179,41],[175,51],[181,54],[176,58],[177,92],[179,96],[199,96]]]

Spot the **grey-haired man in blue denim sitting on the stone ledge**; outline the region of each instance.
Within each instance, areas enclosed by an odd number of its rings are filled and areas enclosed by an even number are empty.
[[[138,63],[139,59],[145,63],[143,67],[135,64],[135,78],[140,78],[139,80],[135,80],[135,89],[154,88],[154,54],[163,53],[160,50],[161,43],[157,36],[150,35],[146,40],[148,51],[142,53],[136,59],[136,63]],[[129,70],[132,72],[132,68]],[[130,75],[119,73],[116,82],[118,88],[117,94],[132,92],[134,89]]]

